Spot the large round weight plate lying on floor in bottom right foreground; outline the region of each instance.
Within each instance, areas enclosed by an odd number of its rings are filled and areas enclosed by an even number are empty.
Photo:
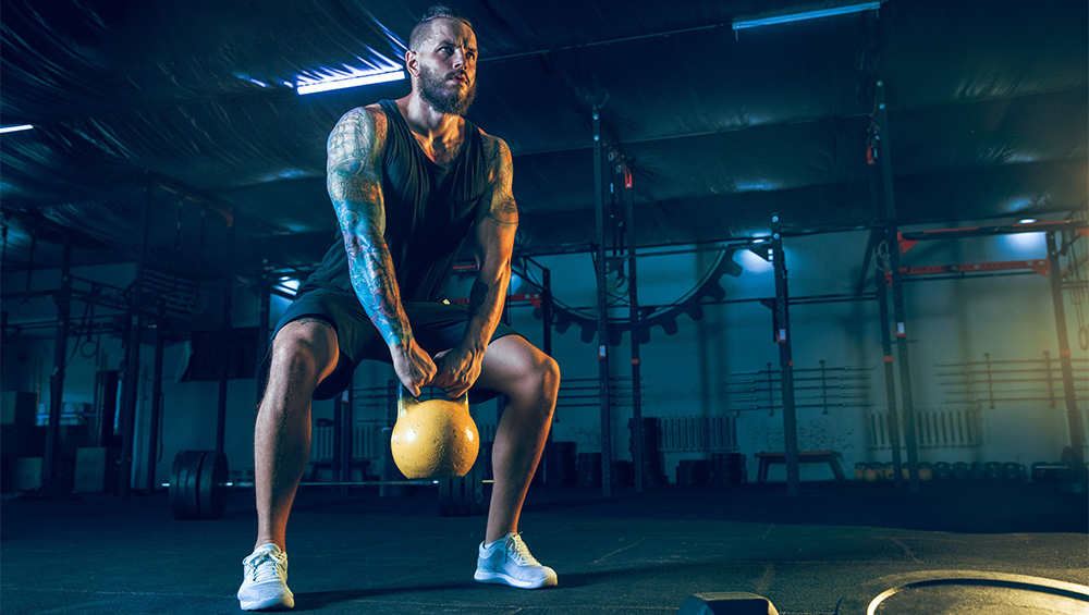
[[[1089,587],[1026,575],[931,570],[891,575],[844,595],[836,615],[1085,615]]]

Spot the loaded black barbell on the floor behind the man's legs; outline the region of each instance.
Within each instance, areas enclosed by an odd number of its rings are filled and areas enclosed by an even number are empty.
[[[175,519],[218,519],[223,516],[230,490],[254,487],[252,481],[229,481],[227,456],[221,451],[181,451],[174,457],[170,482],[170,512]],[[307,482],[299,487],[439,485],[439,514],[480,514],[484,501],[484,469],[475,464],[464,477],[407,480],[357,480]]]

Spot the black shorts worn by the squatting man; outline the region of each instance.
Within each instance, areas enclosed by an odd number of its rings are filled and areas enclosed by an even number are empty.
[[[453,348],[465,337],[469,311],[464,306],[439,302],[404,302],[402,307],[408,317],[416,343],[432,357]],[[347,389],[352,382],[352,373],[362,360],[393,364],[389,346],[355,294],[318,288],[295,297],[277,322],[271,339],[276,339],[284,324],[306,317],[327,321],[337,332],[337,345],[340,346],[337,368],[318,384],[314,391],[315,399],[331,399]],[[521,334],[501,322],[492,333],[491,341],[506,335]],[[262,365],[266,374],[272,356],[271,348],[270,344]],[[469,399],[482,402],[497,395],[494,391],[474,388],[469,392]]]

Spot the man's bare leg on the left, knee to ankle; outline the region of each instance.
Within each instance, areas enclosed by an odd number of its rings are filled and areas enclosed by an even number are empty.
[[[339,356],[337,333],[319,319],[289,322],[272,342],[269,382],[254,431],[255,548],[272,542],[286,550],[287,515],[310,453],[310,401]]]

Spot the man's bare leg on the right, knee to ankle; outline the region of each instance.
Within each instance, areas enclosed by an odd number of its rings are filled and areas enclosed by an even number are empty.
[[[485,541],[518,531],[518,517],[540,460],[560,388],[560,368],[523,337],[507,335],[488,346],[477,384],[510,403],[495,429],[491,505]]]

